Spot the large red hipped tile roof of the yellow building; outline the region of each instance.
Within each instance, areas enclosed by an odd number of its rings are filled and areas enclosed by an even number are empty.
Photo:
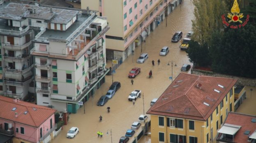
[[[231,78],[180,73],[147,114],[206,121],[236,82]]]

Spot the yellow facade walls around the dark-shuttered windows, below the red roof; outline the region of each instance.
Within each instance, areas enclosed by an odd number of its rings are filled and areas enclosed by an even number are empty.
[[[217,136],[217,121],[218,121],[218,130],[221,128],[221,115],[222,115],[222,124],[226,119],[226,109],[230,111],[230,103],[232,112],[234,112],[234,88],[232,89],[232,96],[230,97],[230,92],[228,92],[227,96],[223,98],[223,107],[221,107],[220,103],[218,105],[218,114],[217,109],[212,112],[212,121],[211,116],[208,118],[208,126],[207,121],[196,121],[196,120],[189,120],[185,118],[180,118],[183,120],[183,129],[175,128],[175,127],[167,127],[167,118],[174,118],[174,117],[164,117],[164,126],[159,126],[159,116],[151,115],[151,142],[152,143],[170,143],[170,134],[178,134],[182,136],[186,136],[186,141],[189,143],[189,136],[197,137],[198,143],[210,143],[210,140],[213,139],[213,143],[216,142]],[[227,99],[226,99],[227,97]],[[221,108],[220,108],[221,107]],[[194,130],[189,130],[189,121],[194,121]],[[211,137],[211,129],[212,129],[212,136]],[[167,131],[167,136],[166,136]],[[159,142],[159,132],[164,133],[164,142]],[[207,142],[207,134],[208,134],[208,142]],[[167,140],[166,140],[167,138]]]

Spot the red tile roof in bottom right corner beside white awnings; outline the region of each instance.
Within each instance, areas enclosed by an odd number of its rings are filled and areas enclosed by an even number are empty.
[[[250,131],[249,135],[256,130],[256,123],[252,123],[251,119],[256,116],[229,112],[225,123],[242,126],[234,138],[234,143],[247,143],[248,135],[244,131]]]

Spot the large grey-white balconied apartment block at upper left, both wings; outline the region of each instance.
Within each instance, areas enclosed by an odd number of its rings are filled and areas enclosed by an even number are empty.
[[[5,95],[23,99],[17,95],[25,96],[34,70],[35,83],[30,85],[35,85],[32,90],[37,104],[76,113],[78,102],[85,103],[105,82],[105,33],[109,29],[106,18],[89,9],[8,2],[0,7],[1,24],[5,24],[0,31],[21,36],[1,36],[1,52],[6,53],[2,58]],[[17,59],[20,63],[11,62]],[[18,85],[16,89],[14,85]]]

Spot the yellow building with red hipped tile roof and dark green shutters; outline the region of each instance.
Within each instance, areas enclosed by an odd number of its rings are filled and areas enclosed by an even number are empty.
[[[148,110],[152,143],[216,143],[217,131],[234,111],[231,78],[179,74]]]

